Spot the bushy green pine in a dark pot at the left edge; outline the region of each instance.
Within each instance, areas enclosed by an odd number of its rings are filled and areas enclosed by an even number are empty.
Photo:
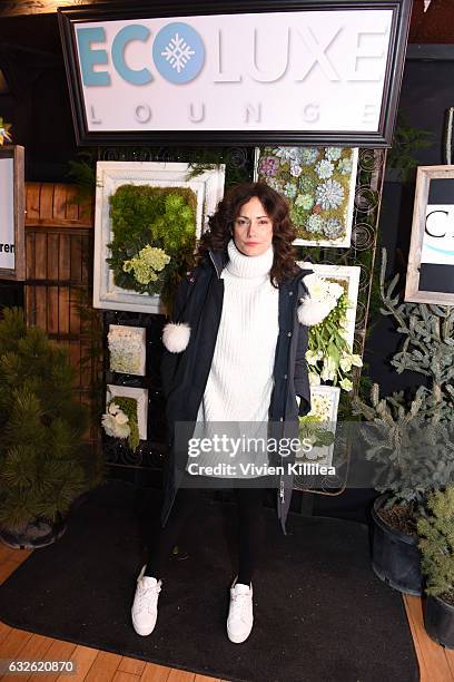
[[[72,503],[99,485],[102,465],[82,439],[87,410],[65,349],[18,308],[0,321],[0,538],[41,547],[66,529]]]

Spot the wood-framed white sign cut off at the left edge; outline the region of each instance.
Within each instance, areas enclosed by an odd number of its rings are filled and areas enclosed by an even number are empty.
[[[0,146],[0,280],[26,279],[24,149]]]

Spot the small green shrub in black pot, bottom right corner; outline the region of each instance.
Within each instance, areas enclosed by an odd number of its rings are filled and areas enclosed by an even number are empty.
[[[432,494],[427,508],[417,522],[427,594],[424,626],[438,644],[454,649],[454,486]]]

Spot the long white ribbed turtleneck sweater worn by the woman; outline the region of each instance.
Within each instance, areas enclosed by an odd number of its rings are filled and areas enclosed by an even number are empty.
[[[229,261],[223,270],[224,302],[218,334],[205,393],[193,438],[229,435],[264,436],[274,386],[273,369],[278,335],[278,289],[272,285],[273,245],[261,255],[244,255],[230,240]],[[219,421],[249,422],[216,430]],[[253,422],[253,423],[250,423]],[[265,430],[264,430],[265,427]],[[265,454],[244,454],[234,458],[224,452],[204,452],[188,462],[213,466],[219,461],[267,462]],[[238,466],[237,466],[238,468]],[[205,471],[200,474],[207,476]],[[253,478],[260,474],[236,474]],[[213,476],[215,476],[213,474]],[[219,476],[219,475],[217,475]]]

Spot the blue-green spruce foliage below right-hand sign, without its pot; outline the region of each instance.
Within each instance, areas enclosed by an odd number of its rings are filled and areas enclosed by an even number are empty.
[[[369,422],[361,432],[366,459],[375,461],[382,474],[374,487],[391,493],[387,506],[412,504],[422,514],[427,496],[454,477],[454,309],[402,302],[398,275],[385,286],[385,273],[383,250],[382,313],[394,318],[403,337],[391,364],[397,373],[422,374],[426,384],[381,398],[374,383],[369,400],[356,398],[353,411]]]

